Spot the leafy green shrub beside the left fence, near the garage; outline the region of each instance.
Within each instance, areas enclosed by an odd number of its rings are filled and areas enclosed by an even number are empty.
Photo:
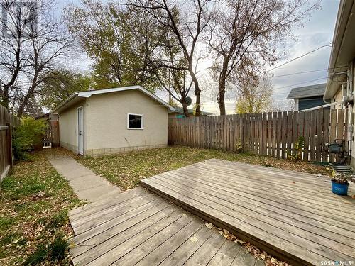
[[[28,152],[42,141],[45,121],[31,117],[21,118],[21,123],[13,131],[13,154],[17,160],[28,159]]]

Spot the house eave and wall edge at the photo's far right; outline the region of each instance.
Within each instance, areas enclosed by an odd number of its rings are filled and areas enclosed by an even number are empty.
[[[351,165],[355,165],[353,140],[354,87],[355,87],[355,1],[341,0],[335,24],[332,52],[330,55],[327,87],[324,101],[336,108],[347,105],[349,112],[349,153]]]

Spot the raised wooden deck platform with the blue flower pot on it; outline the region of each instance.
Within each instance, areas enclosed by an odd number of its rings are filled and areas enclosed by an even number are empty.
[[[355,199],[328,177],[213,159],[141,184],[292,265],[355,262]]]

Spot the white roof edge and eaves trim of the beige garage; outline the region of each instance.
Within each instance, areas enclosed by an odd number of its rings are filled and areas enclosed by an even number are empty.
[[[63,109],[67,104],[70,103],[70,101],[74,100],[77,97],[89,98],[90,96],[95,95],[95,94],[106,94],[106,93],[110,93],[110,92],[124,92],[124,91],[129,91],[132,89],[138,89],[139,91],[143,92],[143,94],[146,94],[147,96],[151,97],[153,100],[158,101],[160,104],[167,107],[171,111],[175,110],[175,108],[173,106],[170,106],[170,104],[163,101],[158,96],[152,94],[148,90],[137,85],[137,86],[128,86],[128,87],[118,87],[118,88],[112,88],[112,89],[98,89],[96,91],[75,92],[74,94],[70,95],[67,99],[65,99],[65,101],[62,101],[62,103],[53,110],[53,113],[58,113],[58,111],[60,111],[60,109]]]

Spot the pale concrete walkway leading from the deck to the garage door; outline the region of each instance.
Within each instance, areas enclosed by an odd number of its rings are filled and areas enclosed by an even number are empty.
[[[55,170],[69,181],[79,199],[94,202],[121,192],[121,189],[99,177],[71,157],[51,156],[48,157],[48,160]]]

